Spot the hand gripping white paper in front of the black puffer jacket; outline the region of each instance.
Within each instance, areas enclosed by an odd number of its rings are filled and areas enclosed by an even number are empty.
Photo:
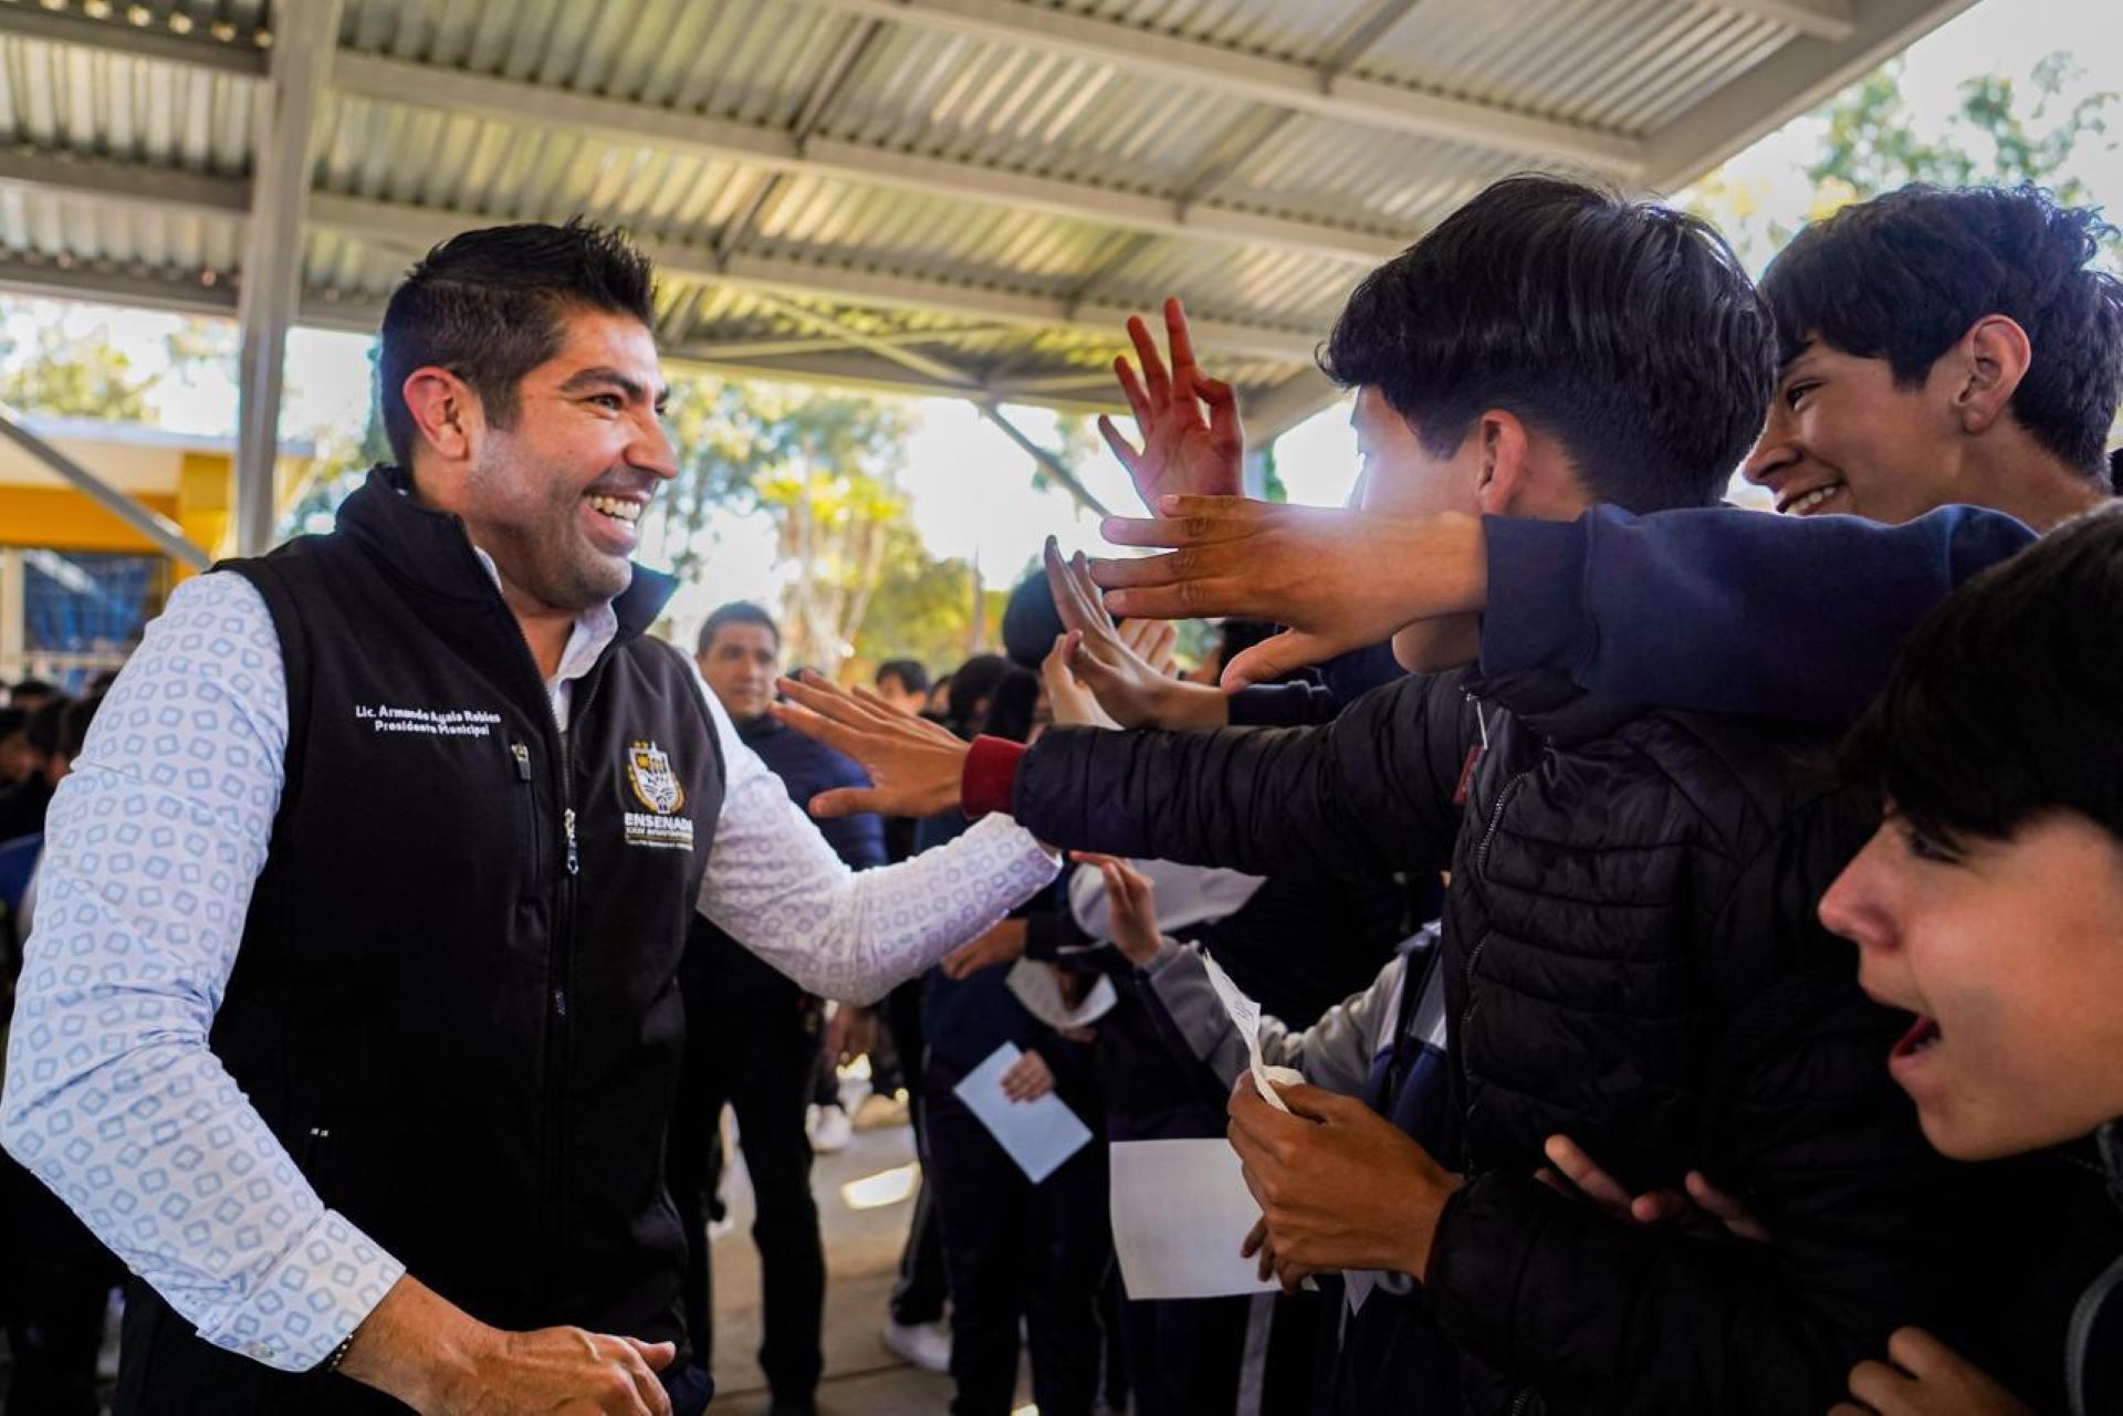
[[[1278,1263],[1422,1278],[1459,1176],[1354,1098],[1301,1085],[1276,1091],[1291,1115],[1240,1076],[1229,1136]]]

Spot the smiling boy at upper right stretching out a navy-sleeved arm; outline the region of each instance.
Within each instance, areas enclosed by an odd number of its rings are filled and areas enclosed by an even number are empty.
[[[1783,372],[1747,476],[1790,520],[1741,512],[1580,522],[1187,501],[1123,529],[1159,556],[1093,567],[1115,614],[1257,614],[1293,628],[1225,686],[1484,607],[1482,664],[1705,711],[1841,724],[1945,590],[2112,495],[2123,280],[2115,227],[2034,187],[1904,187],[1847,206],[1771,263]],[[1964,505],[1953,505],[1964,503]],[[1940,510],[1945,507],[1945,510]],[[1898,522],[1881,531],[1830,518]]]

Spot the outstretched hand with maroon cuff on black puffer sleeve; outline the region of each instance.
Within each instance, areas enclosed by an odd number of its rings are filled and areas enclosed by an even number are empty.
[[[968,747],[949,728],[902,713],[866,688],[839,688],[809,669],[781,679],[779,688],[788,703],[769,705],[775,720],[851,756],[870,775],[866,788],[813,796],[811,815],[936,815],[957,805]]]

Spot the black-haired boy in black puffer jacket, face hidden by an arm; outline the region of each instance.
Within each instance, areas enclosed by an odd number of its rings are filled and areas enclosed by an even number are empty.
[[[1556,178],[1490,187],[1374,272],[1325,363],[1359,388],[1371,503],[1399,514],[1707,505],[1775,384],[1768,312],[1715,234]],[[1420,669],[1465,635],[1395,647]],[[1492,688],[1412,677],[1327,728],[1062,730],[1021,754],[817,684],[786,713],[883,800],[1015,800],[1059,845],[1450,866],[1459,1136],[1439,1163],[1348,1098],[1287,1091],[1312,1125],[1242,1089],[1278,1255],[1425,1278],[1478,1412],[1826,1405],[1853,1357],[1962,1297],[1938,1165],[1872,1061],[1892,1017],[1809,913],[1870,822],[1796,777],[1792,737],[1569,692],[1514,715]],[[1556,1132],[1639,1185],[1713,1157],[1779,1240],[1703,1246],[1569,1202],[1533,1180]]]

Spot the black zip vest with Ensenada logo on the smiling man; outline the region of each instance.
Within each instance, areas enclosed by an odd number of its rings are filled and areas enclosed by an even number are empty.
[[[225,567],[272,609],[289,743],[212,1049],[323,1202],[476,1318],[681,1342],[662,1138],[724,777],[643,637],[673,582],[635,571],[563,735],[463,522],[401,486]],[[397,1410],[159,1301],[125,1337],[121,1410]]]

